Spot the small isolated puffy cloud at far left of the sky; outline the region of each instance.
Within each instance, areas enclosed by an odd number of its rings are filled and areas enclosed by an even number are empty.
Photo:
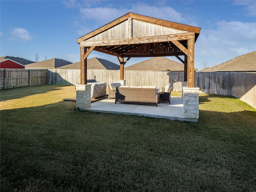
[[[32,35],[24,28],[12,28],[9,39],[14,42],[26,42],[32,40]]]

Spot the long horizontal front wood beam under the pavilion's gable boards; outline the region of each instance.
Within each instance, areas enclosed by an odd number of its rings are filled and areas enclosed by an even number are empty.
[[[106,40],[92,40],[80,42],[81,47],[90,46],[109,46],[109,45],[128,45],[128,44],[144,44],[144,43],[155,43],[155,42],[169,42],[174,40],[187,40],[193,38],[194,33],[180,33],[180,34],[168,34],[159,36],[149,37],[136,37],[136,38],[122,38],[122,39],[106,39]],[[184,46],[183,46],[184,47]]]

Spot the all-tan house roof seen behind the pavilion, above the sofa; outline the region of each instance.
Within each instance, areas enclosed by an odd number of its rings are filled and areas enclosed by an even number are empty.
[[[124,70],[137,71],[184,71],[184,64],[166,57],[153,57],[148,60],[125,67]],[[194,69],[195,71],[198,69]]]

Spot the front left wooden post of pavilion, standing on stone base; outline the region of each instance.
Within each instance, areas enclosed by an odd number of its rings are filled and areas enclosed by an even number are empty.
[[[80,47],[80,84],[87,84],[87,58],[84,58],[87,48]]]

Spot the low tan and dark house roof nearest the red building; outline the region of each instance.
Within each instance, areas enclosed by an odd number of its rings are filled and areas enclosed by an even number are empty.
[[[26,65],[26,68],[50,69],[50,68],[58,68],[58,67],[65,66],[65,65],[68,65],[71,63],[72,62],[69,62],[69,61],[66,61],[63,59],[53,58],[53,59],[48,59],[48,60],[28,64],[28,65]]]

